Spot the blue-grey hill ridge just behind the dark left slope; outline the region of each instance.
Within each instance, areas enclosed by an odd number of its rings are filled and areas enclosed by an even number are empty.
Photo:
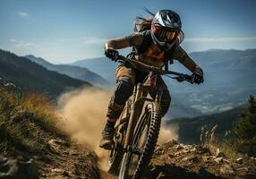
[[[95,72],[91,72],[85,67],[67,64],[51,64],[47,62],[47,60],[41,57],[36,57],[34,55],[25,55],[24,57],[30,59],[32,62],[46,67],[50,71],[60,72],[81,81],[88,81],[93,85],[104,87],[108,84],[108,81],[106,81],[100,75]]]

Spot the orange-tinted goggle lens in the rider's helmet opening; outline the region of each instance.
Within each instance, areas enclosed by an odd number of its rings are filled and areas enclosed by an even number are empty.
[[[178,37],[179,30],[163,30],[159,28],[153,28],[153,33],[160,42],[172,42]]]

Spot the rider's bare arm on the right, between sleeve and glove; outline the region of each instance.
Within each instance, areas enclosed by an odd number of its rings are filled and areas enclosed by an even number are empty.
[[[199,73],[201,74],[201,76],[203,75],[201,67],[195,64],[192,58],[189,55],[187,55],[187,53],[180,46],[176,49],[175,59],[178,60],[181,64],[183,64],[191,72]]]

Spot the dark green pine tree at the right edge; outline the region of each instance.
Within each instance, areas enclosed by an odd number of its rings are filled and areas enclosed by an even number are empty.
[[[250,95],[248,107],[235,124],[235,149],[255,156],[256,154],[256,100]]]

